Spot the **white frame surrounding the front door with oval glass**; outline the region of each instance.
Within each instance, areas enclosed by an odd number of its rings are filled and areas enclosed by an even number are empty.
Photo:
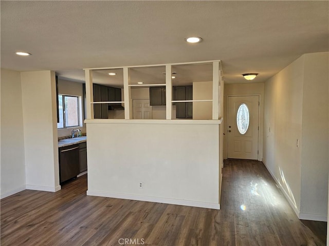
[[[228,157],[228,98],[229,97],[236,97],[236,96],[258,96],[258,101],[259,101],[259,107],[258,107],[258,127],[259,127],[259,131],[258,131],[258,154],[257,154],[257,159],[259,161],[262,161],[261,159],[261,151],[262,151],[262,148],[261,148],[261,131],[263,130],[262,127],[261,127],[261,107],[262,107],[262,100],[261,100],[261,94],[244,94],[244,95],[241,95],[241,94],[232,94],[232,95],[227,95],[226,97],[226,124],[225,124],[225,131],[224,133],[226,134],[226,157]]]

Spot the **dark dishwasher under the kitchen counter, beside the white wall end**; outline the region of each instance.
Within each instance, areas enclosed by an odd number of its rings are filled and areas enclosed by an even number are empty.
[[[80,173],[79,145],[59,148],[60,183],[76,177]]]

